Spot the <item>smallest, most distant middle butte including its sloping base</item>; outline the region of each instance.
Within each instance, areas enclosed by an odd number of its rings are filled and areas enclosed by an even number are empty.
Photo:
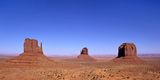
[[[88,49],[86,47],[82,49],[80,55],[77,58],[80,61],[96,61],[94,58],[89,56]]]

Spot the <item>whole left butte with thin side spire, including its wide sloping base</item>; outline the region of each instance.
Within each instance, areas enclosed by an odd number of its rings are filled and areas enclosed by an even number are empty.
[[[26,38],[24,41],[24,52],[8,62],[34,65],[47,64],[50,63],[51,60],[43,54],[42,43],[39,46],[37,40]]]

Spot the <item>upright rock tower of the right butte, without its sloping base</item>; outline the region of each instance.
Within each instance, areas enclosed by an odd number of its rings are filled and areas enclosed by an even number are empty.
[[[118,56],[120,57],[137,57],[137,49],[134,43],[123,43],[118,48]]]

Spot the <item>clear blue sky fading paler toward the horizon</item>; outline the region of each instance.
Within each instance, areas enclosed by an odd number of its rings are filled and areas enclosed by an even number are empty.
[[[20,54],[25,38],[46,55],[117,54],[123,42],[160,53],[159,0],[0,0],[0,54]]]

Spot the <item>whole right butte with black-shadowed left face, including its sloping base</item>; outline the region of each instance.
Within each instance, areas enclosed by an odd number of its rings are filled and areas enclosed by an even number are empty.
[[[141,62],[137,56],[137,48],[134,43],[123,43],[118,48],[118,56],[114,61]]]

